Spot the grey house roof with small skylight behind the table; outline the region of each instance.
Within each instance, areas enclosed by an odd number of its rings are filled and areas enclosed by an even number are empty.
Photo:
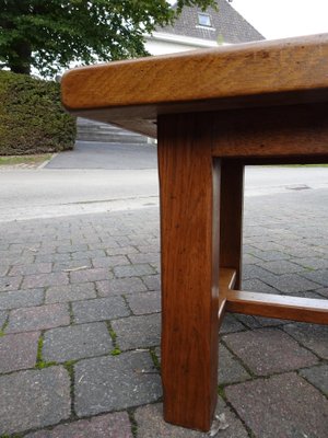
[[[226,0],[218,0],[216,3],[219,11],[213,8],[206,11],[206,14],[210,15],[210,26],[199,25],[198,14],[203,13],[201,8],[185,7],[173,26],[167,25],[157,31],[226,44],[265,39]]]

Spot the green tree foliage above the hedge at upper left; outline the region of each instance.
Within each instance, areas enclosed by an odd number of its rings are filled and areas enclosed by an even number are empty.
[[[143,35],[173,23],[184,5],[214,0],[0,0],[0,64],[14,72],[54,74],[85,65],[145,55]]]

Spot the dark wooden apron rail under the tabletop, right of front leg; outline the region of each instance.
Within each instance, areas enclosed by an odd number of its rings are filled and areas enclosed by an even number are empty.
[[[216,113],[214,157],[328,158],[328,104]]]

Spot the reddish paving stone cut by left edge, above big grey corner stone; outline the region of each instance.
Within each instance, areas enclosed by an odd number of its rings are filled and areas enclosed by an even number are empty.
[[[0,337],[0,372],[33,368],[39,333],[19,333]]]

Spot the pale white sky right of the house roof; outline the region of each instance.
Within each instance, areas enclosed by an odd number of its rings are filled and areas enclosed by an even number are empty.
[[[328,33],[328,0],[233,0],[267,39]]]

